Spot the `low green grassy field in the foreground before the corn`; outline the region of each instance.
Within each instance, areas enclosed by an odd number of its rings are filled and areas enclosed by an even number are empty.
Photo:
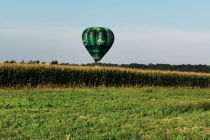
[[[210,139],[210,89],[2,89],[1,139]]]

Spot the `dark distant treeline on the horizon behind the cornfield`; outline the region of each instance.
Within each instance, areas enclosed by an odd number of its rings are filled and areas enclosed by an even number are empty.
[[[39,60],[30,60],[28,62],[20,61],[16,62],[14,60],[4,61],[4,63],[21,63],[21,64],[47,64],[47,62],[41,62]],[[95,66],[94,63],[89,64],[71,64],[71,63],[59,63],[57,60],[51,61],[51,65],[71,65],[71,66]],[[146,69],[146,70],[169,70],[169,71],[182,71],[182,72],[204,72],[210,73],[209,65],[191,65],[191,64],[182,64],[182,65],[170,65],[170,64],[111,64],[111,63],[100,63],[97,64],[100,66],[115,66],[115,67],[125,67],[125,68],[135,68],[135,69]]]

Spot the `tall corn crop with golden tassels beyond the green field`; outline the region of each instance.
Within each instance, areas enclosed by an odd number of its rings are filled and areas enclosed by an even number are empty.
[[[0,64],[0,87],[210,87],[210,74],[121,67]]]

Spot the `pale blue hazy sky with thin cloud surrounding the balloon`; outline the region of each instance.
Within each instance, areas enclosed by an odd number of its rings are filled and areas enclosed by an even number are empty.
[[[81,35],[113,30],[104,63],[210,65],[209,0],[0,0],[0,61],[91,63]]]

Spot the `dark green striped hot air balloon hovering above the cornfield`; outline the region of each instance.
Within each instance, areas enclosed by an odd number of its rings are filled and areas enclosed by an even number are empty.
[[[98,63],[112,47],[114,34],[105,27],[89,27],[84,30],[82,41],[95,63]]]

